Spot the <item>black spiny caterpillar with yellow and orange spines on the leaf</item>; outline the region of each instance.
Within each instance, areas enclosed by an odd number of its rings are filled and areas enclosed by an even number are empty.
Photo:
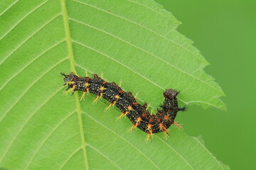
[[[118,119],[126,115],[132,122],[132,127],[129,130],[134,128],[143,130],[148,134],[146,141],[150,140],[152,135],[157,132],[164,132],[164,137],[167,137],[168,128],[171,124],[176,125],[178,128],[181,127],[181,125],[174,122],[174,119],[178,111],[186,111],[186,107],[178,108],[176,96],[179,92],[174,89],[166,89],[164,91],[164,103],[161,104],[160,109],[157,109],[156,114],[150,114],[146,103],[141,105],[131,92],[122,90],[114,82],[107,82],[98,77],[97,74],[93,74],[93,78],[88,76],[79,77],[73,74],[73,72],[61,74],[64,76],[64,86],[68,86],[68,89],[65,91],[66,93],[69,91],[73,91],[73,93],[75,91],[82,91],[81,100],[85,97],[85,94],[92,93],[96,95],[93,102],[100,98],[105,98],[110,102],[110,106],[106,108],[106,111],[111,106],[117,106],[122,112]]]

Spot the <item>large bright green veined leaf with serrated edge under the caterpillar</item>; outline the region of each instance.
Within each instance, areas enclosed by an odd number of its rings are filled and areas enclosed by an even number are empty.
[[[104,73],[156,110],[225,109],[208,62],[154,1],[3,0],[0,6],[0,166],[4,169],[228,169],[196,137],[170,128],[151,142],[93,95],[63,95],[60,72]]]

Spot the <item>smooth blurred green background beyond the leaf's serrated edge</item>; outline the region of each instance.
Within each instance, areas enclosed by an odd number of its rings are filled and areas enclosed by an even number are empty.
[[[230,169],[256,169],[256,1],[155,0],[183,24],[210,66],[205,71],[223,88],[228,111],[189,106],[178,115],[189,135]]]

